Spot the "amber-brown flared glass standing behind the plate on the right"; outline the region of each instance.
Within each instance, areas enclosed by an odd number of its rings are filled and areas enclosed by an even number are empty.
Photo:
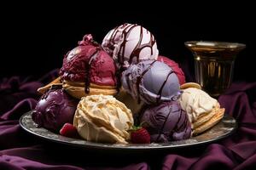
[[[195,81],[217,98],[230,88],[236,55],[246,47],[233,42],[185,42],[195,59]]]

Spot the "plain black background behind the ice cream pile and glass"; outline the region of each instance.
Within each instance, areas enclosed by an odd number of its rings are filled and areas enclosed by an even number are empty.
[[[175,6],[155,8],[158,10],[118,8],[89,11],[84,6],[75,12],[70,8],[11,8],[1,16],[0,77],[41,77],[60,68],[64,54],[76,47],[84,34],[91,33],[97,42],[102,42],[109,30],[128,22],[151,31],[160,54],[176,60],[186,75],[194,73],[194,63],[184,42],[246,43],[247,48],[236,59],[234,80],[256,80],[253,75],[256,47],[254,10],[244,5],[190,10]]]

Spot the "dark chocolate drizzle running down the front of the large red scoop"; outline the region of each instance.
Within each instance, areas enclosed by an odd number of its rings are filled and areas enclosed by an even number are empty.
[[[96,59],[96,56],[98,52],[101,50],[101,48],[96,48],[96,51],[90,55],[89,61],[85,64],[85,80],[84,80],[84,93],[89,94],[90,93],[90,65],[91,62]]]

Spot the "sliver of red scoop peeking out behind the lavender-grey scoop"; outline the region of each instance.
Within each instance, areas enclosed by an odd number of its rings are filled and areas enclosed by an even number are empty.
[[[177,75],[178,78],[178,82],[180,83],[180,85],[182,85],[183,83],[186,82],[186,77],[184,75],[183,70],[178,66],[177,62],[175,62],[172,59],[168,59],[165,56],[158,56],[157,60],[166,63],[166,65],[169,65],[172,67],[172,70],[175,72],[175,74]]]

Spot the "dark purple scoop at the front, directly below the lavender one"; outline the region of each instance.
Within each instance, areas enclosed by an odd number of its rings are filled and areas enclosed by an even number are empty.
[[[140,121],[148,130],[151,142],[189,139],[191,136],[189,118],[177,101],[150,106]]]

